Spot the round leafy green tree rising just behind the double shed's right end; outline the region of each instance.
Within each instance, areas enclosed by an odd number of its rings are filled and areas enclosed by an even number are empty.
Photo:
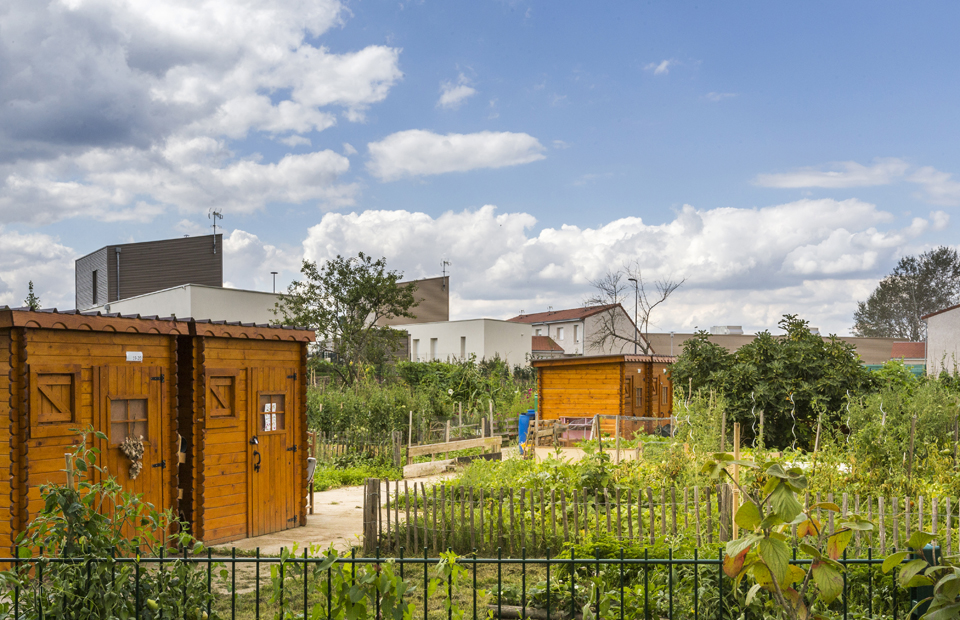
[[[293,282],[274,312],[287,325],[310,327],[333,353],[333,368],[346,383],[365,368],[382,365],[403,338],[403,332],[377,325],[380,319],[414,318],[414,290],[399,286],[403,274],[388,271],[385,258],[374,261],[360,252],[337,255],[322,267],[303,261],[304,279]]]

